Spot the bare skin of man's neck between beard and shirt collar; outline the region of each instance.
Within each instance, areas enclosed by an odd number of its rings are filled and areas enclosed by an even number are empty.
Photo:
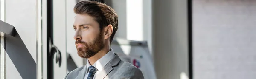
[[[101,51],[99,51],[97,54],[94,56],[88,58],[88,61],[90,62],[90,65],[93,65],[97,60],[102,58],[105,54],[107,54],[110,51],[109,48],[103,48]]]

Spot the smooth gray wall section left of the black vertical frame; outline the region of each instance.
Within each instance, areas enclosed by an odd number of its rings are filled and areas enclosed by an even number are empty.
[[[188,76],[187,0],[153,0],[152,3],[157,79],[181,79],[182,73]]]

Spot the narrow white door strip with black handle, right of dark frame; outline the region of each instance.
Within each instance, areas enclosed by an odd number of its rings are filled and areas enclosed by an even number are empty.
[[[51,32],[48,40],[49,40],[49,46],[52,45],[52,47],[49,48],[50,55],[48,55],[48,58],[52,60],[48,62],[49,63],[48,67],[50,67],[48,74],[49,74],[49,77],[52,77],[53,79],[63,79],[67,72],[66,1],[65,0],[51,0],[51,1],[52,1],[52,18],[49,18],[49,19],[52,20],[52,24],[50,23],[49,24],[52,25],[52,27],[50,28]]]

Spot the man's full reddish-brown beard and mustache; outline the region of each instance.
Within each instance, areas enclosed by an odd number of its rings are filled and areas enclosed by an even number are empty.
[[[81,40],[76,40],[76,44],[84,44],[85,46],[77,48],[77,54],[82,58],[90,58],[97,54],[102,48],[104,48],[104,42],[102,34],[100,33],[92,42],[83,42]]]

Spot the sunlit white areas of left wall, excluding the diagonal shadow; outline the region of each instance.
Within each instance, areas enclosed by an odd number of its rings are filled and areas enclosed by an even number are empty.
[[[15,26],[26,48],[36,62],[36,0],[5,1],[6,23]],[[22,79],[8,54],[6,56],[6,78]]]

